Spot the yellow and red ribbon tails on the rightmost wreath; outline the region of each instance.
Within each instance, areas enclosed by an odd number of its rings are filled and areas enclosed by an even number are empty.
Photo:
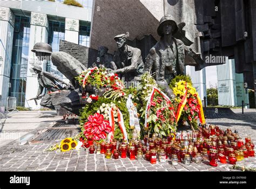
[[[177,122],[179,121],[179,118],[181,116],[182,110],[183,110],[183,108],[185,107],[185,105],[187,103],[187,87],[186,86],[187,86],[187,83],[185,84],[185,92],[184,92],[183,98],[181,99],[181,102],[179,103],[179,106],[178,106],[178,110],[177,110],[177,114],[176,114],[176,121]],[[198,103],[200,105],[200,110],[198,112],[199,120],[200,120],[201,124],[205,124],[205,116],[204,116],[203,104],[202,104],[201,99],[198,96],[198,94],[197,94],[196,97],[197,97],[197,101],[198,101]]]

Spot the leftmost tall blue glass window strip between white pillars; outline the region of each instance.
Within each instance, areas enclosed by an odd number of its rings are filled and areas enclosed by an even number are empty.
[[[24,106],[28,71],[30,18],[16,16],[12,46],[9,96],[16,97],[17,106]]]

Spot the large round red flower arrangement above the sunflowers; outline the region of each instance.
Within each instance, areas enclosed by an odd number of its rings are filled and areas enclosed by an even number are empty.
[[[87,138],[92,135],[96,141],[105,139],[107,133],[111,132],[111,130],[110,123],[104,120],[103,114],[90,115],[88,121],[84,124],[84,136]]]

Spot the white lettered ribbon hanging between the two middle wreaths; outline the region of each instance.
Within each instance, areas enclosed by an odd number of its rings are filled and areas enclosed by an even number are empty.
[[[130,114],[130,127],[135,127],[135,129],[140,132],[140,127],[139,127],[139,118],[137,114],[137,108],[134,106],[132,102],[132,95],[129,94],[128,99],[126,101],[126,108],[129,111]]]

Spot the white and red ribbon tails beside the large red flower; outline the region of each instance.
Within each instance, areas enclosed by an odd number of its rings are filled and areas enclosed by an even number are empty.
[[[120,130],[124,136],[124,139],[126,139],[126,141],[128,142],[128,136],[127,136],[127,132],[125,129],[125,125],[124,125],[124,119],[123,119],[123,114],[121,113],[121,111],[117,108],[117,117],[118,117],[118,125],[120,127]],[[110,108],[109,109],[109,122],[112,128],[112,131],[109,133],[109,135],[107,136],[107,138],[109,139],[109,142],[113,141],[114,138],[114,109]]]

